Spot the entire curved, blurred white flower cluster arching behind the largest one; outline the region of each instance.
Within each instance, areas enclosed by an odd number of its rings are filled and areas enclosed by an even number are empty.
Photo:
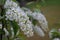
[[[37,20],[40,23],[41,28],[44,31],[48,31],[48,22],[45,18],[45,16],[41,13],[41,12],[32,12],[30,9],[28,8],[23,8],[23,10],[25,11],[26,14],[28,14],[29,16],[32,16],[33,19]]]

